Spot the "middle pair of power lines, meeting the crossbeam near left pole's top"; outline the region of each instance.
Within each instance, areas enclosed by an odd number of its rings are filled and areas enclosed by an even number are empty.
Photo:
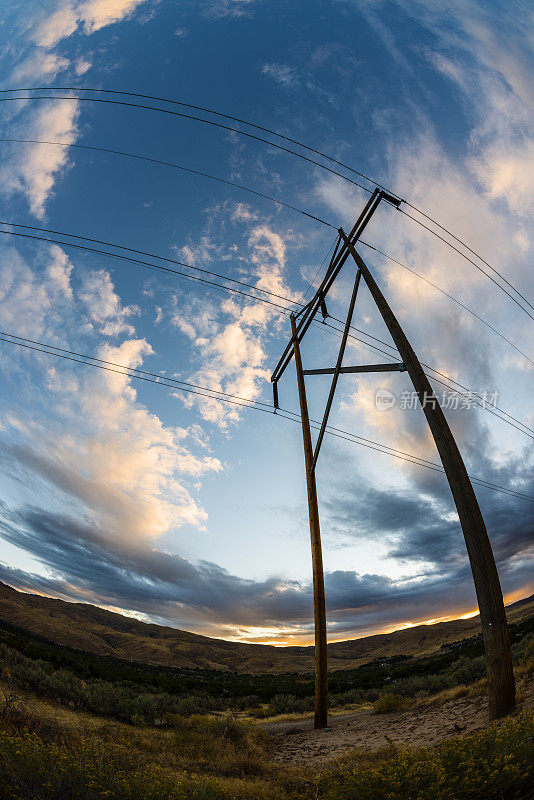
[[[148,252],[143,251],[143,250],[138,250],[138,249],[135,249],[135,248],[125,247],[124,245],[114,244],[112,242],[106,242],[106,241],[103,241],[103,240],[100,240],[100,239],[93,239],[93,238],[90,238],[90,237],[79,236],[78,234],[65,233],[65,232],[62,232],[62,231],[54,231],[54,230],[52,230],[50,228],[39,228],[39,227],[36,227],[36,226],[21,225],[21,224],[18,224],[18,223],[11,223],[11,222],[6,222],[6,221],[0,221],[0,224],[12,225],[14,227],[25,228],[25,229],[28,229],[28,230],[39,230],[39,231],[44,231],[44,232],[51,232],[51,233],[55,233],[55,234],[58,234],[58,235],[61,235],[61,236],[75,237],[75,238],[81,239],[83,241],[95,242],[95,243],[98,243],[98,244],[106,245],[108,247],[120,248],[120,249],[126,250],[128,252],[133,252],[133,253],[137,253],[137,254],[141,254],[141,255],[147,255],[147,256],[149,256],[151,258],[156,258],[156,259],[160,259],[160,260],[163,260],[163,261],[168,261],[170,263],[179,264],[181,266],[185,266],[185,267],[187,267],[189,269],[192,269],[192,270],[197,270],[197,271],[200,271],[200,272],[203,272],[203,273],[215,276],[215,277],[219,277],[219,278],[222,278],[223,280],[227,280],[229,282],[234,282],[236,284],[239,284],[241,286],[245,286],[245,287],[253,289],[255,291],[260,291],[260,292],[262,292],[264,294],[272,295],[273,297],[277,297],[278,299],[284,300],[284,301],[286,301],[288,303],[294,303],[295,302],[295,301],[291,300],[290,298],[284,297],[283,295],[278,295],[278,294],[276,294],[274,292],[270,292],[270,291],[268,291],[266,289],[257,289],[252,284],[248,284],[248,283],[245,283],[243,281],[238,281],[238,280],[236,280],[234,278],[229,278],[226,275],[221,275],[219,273],[212,272],[210,270],[205,270],[205,269],[203,269],[201,267],[195,267],[195,266],[193,266],[191,264],[186,264],[185,262],[177,261],[175,259],[166,258],[164,256],[158,256],[158,255],[156,255],[154,253],[148,253]],[[240,295],[240,296],[247,297],[249,299],[255,300],[256,302],[266,303],[266,304],[268,304],[270,306],[273,306],[273,307],[279,309],[283,313],[290,313],[290,311],[291,311],[291,309],[289,307],[282,306],[279,303],[275,303],[275,302],[273,302],[271,300],[267,300],[266,298],[256,297],[255,295],[251,295],[248,292],[243,292],[243,291],[240,291],[238,289],[234,289],[233,287],[230,287],[230,286],[224,286],[222,284],[218,284],[218,283],[216,283],[214,281],[209,281],[209,280],[206,280],[204,278],[199,278],[199,277],[196,277],[196,276],[193,276],[193,275],[187,275],[186,273],[183,273],[183,272],[181,272],[179,270],[174,270],[174,269],[171,269],[169,267],[164,267],[164,266],[157,265],[157,264],[151,264],[151,263],[149,263],[147,261],[136,259],[136,258],[132,258],[130,256],[123,256],[123,255],[118,254],[118,253],[109,253],[109,252],[107,252],[105,250],[100,250],[98,248],[88,247],[87,245],[79,245],[79,244],[76,244],[76,243],[73,243],[73,242],[63,242],[63,241],[60,241],[60,240],[57,240],[57,239],[50,239],[50,238],[47,238],[47,237],[41,237],[41,236],[35,236],[35,235],[23,234],[23,233],[17,233],[16,231],[2,231],[2,230],[0,230],[0,235],[1,234],[10,235],[10,236],[20,236],[20,237],[23,237],[23,238],[35,239],[37,241],[44,241],[44,242],[48,242],[48,243],[51,243],[51,244],[57,244],[57,245],[61,245],[61,246],[73,247],[73,248],[81,249],[81,250],[87,250],[89,252],[97,253],[99,255],[108,256],[110,258],[115,258],[115,259],[119,259],[119,260],[122,260],[122,261],[131,262],[131,263],[137,264],[139,266],[142,266],[143,268],[152,269],[152,270],[160,270],[160,271],[163,271],[163,272],[166,272],[166,273],[177,275],[177,276],[182,277],[182,278],[186,278],[187,280],[197,281],[197,282],[200,282],[202,284],[206,284],[206,285],[209,285],[211,287],[215,287],[217,289],[222,289],[223,291],[229,291],[229,292],[232,292],[234,294],[237,294],[237,295]],[[331,317],[331,319],[335,320],[336,322],[342,322],[342,320],[339,320],[336,317]],[[330,328],[332,331],[336,331],[338,334],[340,333],[340,331],[335,326],[330,325],[327,322],[322,322],[322,323],[318,322],[318,323],[316,323],[316,325],[317,326],[324,325],[327,328]],[[361,333],[362,335],[364,335],[364,336],[366,336],[368,338],[374,339],[375,341],[385,345],[386,347],[389,347],[390,349],[394,349],[394,350],[396,349],[396,348],[392,348],[392,346],[390,344],[388,344],[387,342],[384,342],[381,339],[378,339],[376,336],[372,336],[371,334],[368,334],[365,331],[362,331],[359,328],[356,328],[355,326],[351,325],[351,329],[352,330],[356,330],[358,333]],[[362,339],[358,338],[357,336],[349,334],[349,338],[354,340],[354,341],[359,342],[361,345],[363,345],[367,349],[371,348],[373,352],[381,353],[381,354],[383,354],[383,355],[385,355],[385,356],[387,356],[389,358],[392,357],[389,352],[386,352],[385,350],[382,350],[381,348],[378,348],[376,345],[372,345],[369,342],[365,342]],[[456,383],[457,386],[460,386],[461,388],[465,389],[466,391],[469,391],[466,387],[462,386],[462,384],[460,384],[460,383],[458,383],[456,381],[453,381],[452,378],[449,378],[449,376],[445,375],[445,373],[442,373],[439,370],[436,370],[434,367],[431,367],[428,364],[424,364],[424,363],[423,363],[423,366],[426,367],[427,369],[430,369],[432,372],[435,372],[438,375],[441,375],[441,377],[443,377],[443,378],[445,378],[447,380],[450,380],[452,383]],[[436,380],[438,380],[438,379],[436,379]],[[438,380],[438,382],[443,384],[442,381]],[[445,384],[443,384],[443,385],[445,385]],[[450,387],[447,387],[447,388],[450,388]],[[461,394],[461,392],[460,392],[460,394]],[[494,416],[496,416],[498,419],[502,419],[503,422],[506,422],[507,424],[511,425],[513,428],[516,428],[521,433],[525,433],[525,435],[530,436],[529,433],[527,433],[526,431],[522,430],[521,428],[518,428],[517,425],[514,425],[512,422],[509,422],[508,420],[503,419],[502,417],[500,417],[499,414],[497,414],[492,408],[490,408],[485,403],[480,403],[477,400],[475,400],[474,402],[476,403],[476,405],[478,405],[481,408],[484,408],[485,410],[487,410],[490,413],[494,414]],[[518,420],[515,417],[513,417],[508,412],[506,412],[503,409],[500,409],[498,407],[496,407],[496,409],[498,411],[500,411],[501,413],[505,414],[505,416],[507,416],[510,420],[513,420],[514,422],[519,423],[519,425],[522,425],[524,428],[527,429],[527,431],[530,431],[531,433],[534,433],[534,430],[528,428],[528,426],[526,426],[520,420]],[[530,438],[532,438],[532,437],[530,437]]]

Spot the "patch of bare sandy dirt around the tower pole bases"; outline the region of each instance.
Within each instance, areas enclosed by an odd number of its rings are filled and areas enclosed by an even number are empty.
[[[530,686],[522,707],[534,704]],[[354,748],[373,751],[390,744],[432,746],[489,725],[485,697],[461,697],[439,706],[418,706],[394,714],[356,711],[331,715],[330,729],[313,730],[313,720],[263,723],[273,737],[273,758],[302,765],[339,758]]]

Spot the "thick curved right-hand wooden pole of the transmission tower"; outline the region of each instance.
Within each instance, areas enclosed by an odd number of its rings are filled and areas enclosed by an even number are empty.
[[[460,518],[480,610],[488,674],[489,716],[490,719],[504,717],[515,709],[514,673],[502,589],[484,518],[445,414],[437,402],[427,402],[435,395],[419,359],[362,257],[341,228],[339,233],[406,365],[441,457]]]

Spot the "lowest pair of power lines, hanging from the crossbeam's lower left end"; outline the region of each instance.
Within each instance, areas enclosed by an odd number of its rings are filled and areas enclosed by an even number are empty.
[[[7,338],[10,337],[10,338]],[[212,390],[208,387],[198,386],[197,384],[188,384],[185,381],[181,381],[184,383],[185,386],[177,386],[176,383],[169,383],[169,380],[164,375],[158,375],[158,373],[150,373],[144,370],[138,370],[134,367],[127,367],[125,365],[117,364],[112,361],[106,361],[105,359],[95,358],[93,356],[77,353],[75,351],[67,350],[65,348],[55,347],[54,345],[48,345],[44,342],[38,342],[33,339],[27,339],[22,336],[15,336],[13,334],[9,334],[6,332],[0,332],[0,341],[3,341],[7,344],[13,344],[18,347],[23,347],[28,350],[36,351],[45,355],[55,356],[56,358],[63,358],[68,361],[72,361],[75,363],[79,363],[85,366],[92,366],[96,367],[97,369],[102,369],[107,372],[112,372],[119,375],[126,375],[130,378],[137,378],[138,380],[147,381],[149,383],[155,383],[159,386],[165,386],[167,388],[171,388],[177,391],[186,392],[188,394],[199,395],[200,397],[206,397],[211,400],[217,400],[220,402],[230,403],[232,405],[240,406],[242,408],[252,408],[256,411],[262,411],[264,413],[268,413],[271,416],[273,412],[268,410],[266,407],[266,403],[261,403],[260,401],[256,400],[247,400],[246,398],[239,397],[238,395],[230,395],[227,393],[224,394],[224,397],[215,396],[213,392],[219,392],[219,390]],[[138,374],[140,373],[140,374]],[[196,388],[189,388],[189,387],[196,387]],[[198,389],[202,389],[204,391],[198,391]],[[235,399],[233,399],[235,398]],[[242,402],[244,401],[244,402]],[[287,409],[281,409],[283,412],[280,414],[277,412],[276,416],[282,416],[285,419],[289,419],[292,422],[299,421],[299,415],[294,411],[289,411]],[[285,415],[292,415],[292,416],[285,416]],[[311,420],[313,422],[312,427],[314,429],[319,428],[319,424],[317,420]],[[367,447],[372,450],[377,450],[378,452],[382,452],[385,455],[391,455],[394,458],[400,459],[401,461],[407,461],[408,463],[416,464],[417,466],[422,466],[427,469],[432,469],[435,472],[443,473],[444,470],[440,467],[439,464],[434,464],[431,461],[427,461],[426,459],[422,459],[419,456],[415,456],[410,453],[404,453],[401,450],[395,450],[395,448],[391,448],[388,445],[383,445],[380,442],[374,442],[372,439],[364,439],[363,437],[357,436],[357,434],[352,434],[348,431],[343,431],[339,428],[332,428],[328,426],[328,431],[330,435],[336,436],[337,438],[345,439],[346,441],[350,441],[353,444],[359,444],[362,447]],[[494,491],[499,491],[504,494],[508,494],[518,499],[529,500],[534,502],[534,497],[527,495],[522,492],[517,492],[516,490],[509,489],[507,487],[499,486],[498,484],[490,483],[483,478],[472,477],[472,480],[476,482],[478,485],[483,486],[484,488],[492,489]]]

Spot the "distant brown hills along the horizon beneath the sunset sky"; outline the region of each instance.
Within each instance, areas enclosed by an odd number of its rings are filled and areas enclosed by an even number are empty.
[[[510,621],[534,614],[534,595],[507,607]],[[274,647],[212,639],[164,625],[140,622],[84,603],[19,592],[0,583],[0,619],[58,644],[173,667],[249,673],[310,672],[313,647]],[[330,669],[357,667],[374,658],[428,655],[443,645],[480,633],[478,617],[417,625],[393,633],[334,642]]]

